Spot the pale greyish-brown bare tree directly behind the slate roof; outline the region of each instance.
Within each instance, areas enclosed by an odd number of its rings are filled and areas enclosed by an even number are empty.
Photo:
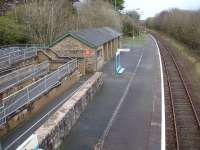
[[[121,30],[121,15],[113,6],[104,1],[96,0],[82,4],[79,9],[79,28],[110,26]]]

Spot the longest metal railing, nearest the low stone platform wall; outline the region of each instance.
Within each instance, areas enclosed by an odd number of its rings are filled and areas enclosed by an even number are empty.
[[[6,123],[6,118],[14,113],[19,108],[26,104],[33,102],[43,93],[48,92],[55,87],[63,77],[68,76],[77,68],[77,60],[72,60],[63,66],[59,67],[56,71],[41,78],[35,83],[23,88],[22,90],[10,95],[3,99],[0,105],[0,125]]]

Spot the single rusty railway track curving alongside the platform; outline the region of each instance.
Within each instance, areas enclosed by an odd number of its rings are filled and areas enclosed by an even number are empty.
[[[200,121],[186,82],[169,49],[159,41],[158,45],[165,71],[167,149],[200,150]]]

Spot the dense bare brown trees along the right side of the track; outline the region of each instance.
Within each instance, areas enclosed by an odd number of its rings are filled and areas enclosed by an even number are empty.
[[[187,44],[190,48],[200,48],[200,10],[172,9],[163,11],[156,17],[147,19],[146,25],[167,33]]]

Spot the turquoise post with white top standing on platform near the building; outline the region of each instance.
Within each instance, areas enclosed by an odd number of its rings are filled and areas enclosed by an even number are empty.
[[[125,70],[125,68],[121,66],[121,60],[120,60],[121,52],[130,52],[130,49],[117,49],[117,52],[115,54],[115,74],[116,75],[122,74]]]

